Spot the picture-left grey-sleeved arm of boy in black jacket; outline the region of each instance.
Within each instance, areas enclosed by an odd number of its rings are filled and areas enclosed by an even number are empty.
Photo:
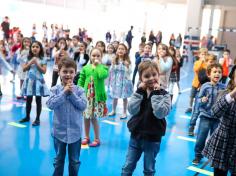
[[[128,103],[128,111],[131,115],[136,115],[140,111],[140,105],[143,100],[143,96],[145,95],[146,91],[142,88],[138,88],[135,93],[130,97]]]

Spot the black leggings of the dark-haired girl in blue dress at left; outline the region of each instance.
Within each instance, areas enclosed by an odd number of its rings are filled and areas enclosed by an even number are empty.
[[[26,98],[26,118],[30,118],[31,104],[33,96],[27,96]],[[36,96],[36,120],[40,120],[40,114],[42,111],[42,97]]]

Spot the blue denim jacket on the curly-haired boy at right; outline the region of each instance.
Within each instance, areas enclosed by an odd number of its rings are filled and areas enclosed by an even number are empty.
[[[221,90],[225,89],[225,85],[221,83],[217,83],[216,85],[212,85],[211,82],[206,82],[202,85],[200,92],[198,94],[198,102],[199,102],[199,117],[204,116],[211,118],[211,109],[214,103],[216,102],[217,96]],[[202,97],[208,97],[207,102],[202,102]]]

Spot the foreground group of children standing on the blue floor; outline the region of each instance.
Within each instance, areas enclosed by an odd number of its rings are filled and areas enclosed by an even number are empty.
[[[74,37],[74,39],[77,38]],[[156,57],[154,57],[150,43],[140,44],[139,52],[135,55],[135,69],[131,80],[132,66],[127,46],[122,43],[109,44],[107,48],[108,52],[105,53],[105,44],[99,41],[93,49],[90,49],[88,55],[86,43],[80,42],[78,46],[74,44],[73,52],[70,53],[66,39],[60,38],[53,51],[51,91],[48,90],[43,77],[47,70],[47,61],[44,59],[42,44],[24,38],[16,54],[21,63],[19,67],[19,75],[22,76],[20,77],[20,98],[26,98],[26,116],[19,122],[30,121],[31,104],[35,96],[36,119],[32,125],[40,125],[42,96],[50,95],[46,104],[54,111],[52,130],[56,151],[54,175],[63,175],[67,145],[69,173],[70,175],[78,174],[81,144],[91,147],[101,144],[98,118],[115,115],[119,98],[123,99],[123,112],[120,118],[127,118],[127,109],[131,115],[128,122],[131,137],[122,175],[132,175],[142,152],[145,154],[144,175],[155,173],[155,158],[160,149],[161,138],[165,135],[165,117],[171,109],[173,85],[177,83],[179,88],[182,65],[179,50],[159,44]],[[14,73],[5,61],[6,56],[4,57],[3,51],[1,48],[0,61]],[[228,50],[225,52],[224,56],[229,55]],[[194,64],[195,77],[190,101],[192,106],[195,98],[189,128],[190,135],[194,135],[196,120],[200,118],[193,163],[198,164],[204,154],[213,160],[216,174],[223,172],[227,174],[227,170],[235,173],[235,137],[227,139],[231,140],[230,144],[224,138],[235,135],[233,129],[236,125],[234,118],[236,67],[233,67],[230,73],[231,80],[225,89],[225,86],[219,82],[222,74],[227,78],[229,69],[224,70],[224,67],[229,65],[229,61],[221,60],[222,67],[216,63],[213,55],[207,53],[206,49],[201,49],[199,56],[199,60]],[[137,72],[139,80],[137,90],[133,93]],[[58,77],[61,84],[57,84]],[[111,88],[110,96],[113,99],[110,113],[106,106],[106,84]],[[221,90],[224,92],[221,93]],[[129,103],[128,98],[130,98]],[[215,103],[217,99],[219,101]],[[85,137],[82,140],[83,118]],[[91,124],[94,130],[93,141],[90,140],[89,135]],[[209,131],[213,135],[205,147]],[[216,133],[220,134],[216,135]],[[221,153],[222,147],[225,153]],[[233,152],[233,156],[227,150]]]

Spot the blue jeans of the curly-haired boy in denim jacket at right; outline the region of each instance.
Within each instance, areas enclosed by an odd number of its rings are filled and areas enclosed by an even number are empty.
[[[212,119],[207,117],[201,117],[198,133],[197,133],[197,141],[194,148],[195,157],[202,158],[202,150],[205,147],[206,139],[208,136],[208,133],[210,131],[210,135],[215,131],[219,124],[218,119]]]

